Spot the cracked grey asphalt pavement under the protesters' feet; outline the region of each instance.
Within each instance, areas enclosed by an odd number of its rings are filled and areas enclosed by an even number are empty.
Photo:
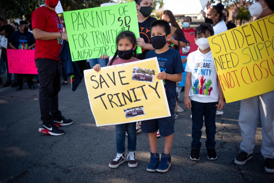
[[[3,85],[3,84],[2,84]],[[258,124],[253,158],[245,165],[234,164],[240,151],[238,125],[240,102],[226,104],[224,114],[216,117],[217,160],[208,160],[205,128],[200,161],[190,160],[191,111],[184,108],[175,123],[172,165],[168,172],[147,172],[149,144],[147,135],[137,134],[138,166],[127,163],[108,167],[116,157],[115,126],[96,127],[85,84],[75,92],[70,85],[61,87],[59,108],[73,124],[60,127],[62,136],[38,132],[41,125],[39,89],[15,91],[0,86],[0,182],[274,182],[265,172],[261,155],[261,124]],[[36,83],[37,85],[37,83]],[[37,87],[38,88],[38,87]],[[184,92],[181,94],[183,99]],[[157,109],[157,108],[156,108]],[[127,142],[126,142],[127,143]],[[158,152],[163,152],[164,138],[158,138]]]

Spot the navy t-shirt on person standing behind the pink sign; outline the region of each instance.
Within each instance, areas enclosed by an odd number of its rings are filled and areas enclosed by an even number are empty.
[[[28,46],[35,43],[35,38],[31,32],[21,33],[14,31],[11,34],[9,42],[13,44],[16,49],[27,49]]]

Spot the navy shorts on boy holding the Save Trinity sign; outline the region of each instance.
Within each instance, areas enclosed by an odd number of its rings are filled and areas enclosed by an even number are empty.
[[[153,133],[157,132],[159,129],[160,136],[162,137],[174,134],[174,113],[176,106],[176,98],[168,98],[167,100],[171,116],[166,118],[157,118],[153,120],[142,121],[142,132]]]

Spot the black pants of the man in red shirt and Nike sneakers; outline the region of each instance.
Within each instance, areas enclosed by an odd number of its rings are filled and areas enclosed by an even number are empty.
[[[40,81],[39,105],[43,124],[50,124],[61,116],[58,110],[58,93],[61,89],[60,61],[47,58],[35,60]]]

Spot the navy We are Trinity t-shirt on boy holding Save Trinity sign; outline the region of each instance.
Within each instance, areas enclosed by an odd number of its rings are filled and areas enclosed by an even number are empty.
[[[184,67],[179,51],[170,48],[164,53],[157,54],[155,49],[146,54],[147,58],[157,57],[160,71],[165,71],[168,74],[179,74],[184,72]],[[176,82],[165,79],[164,87],[167,98],[176,97]]]

